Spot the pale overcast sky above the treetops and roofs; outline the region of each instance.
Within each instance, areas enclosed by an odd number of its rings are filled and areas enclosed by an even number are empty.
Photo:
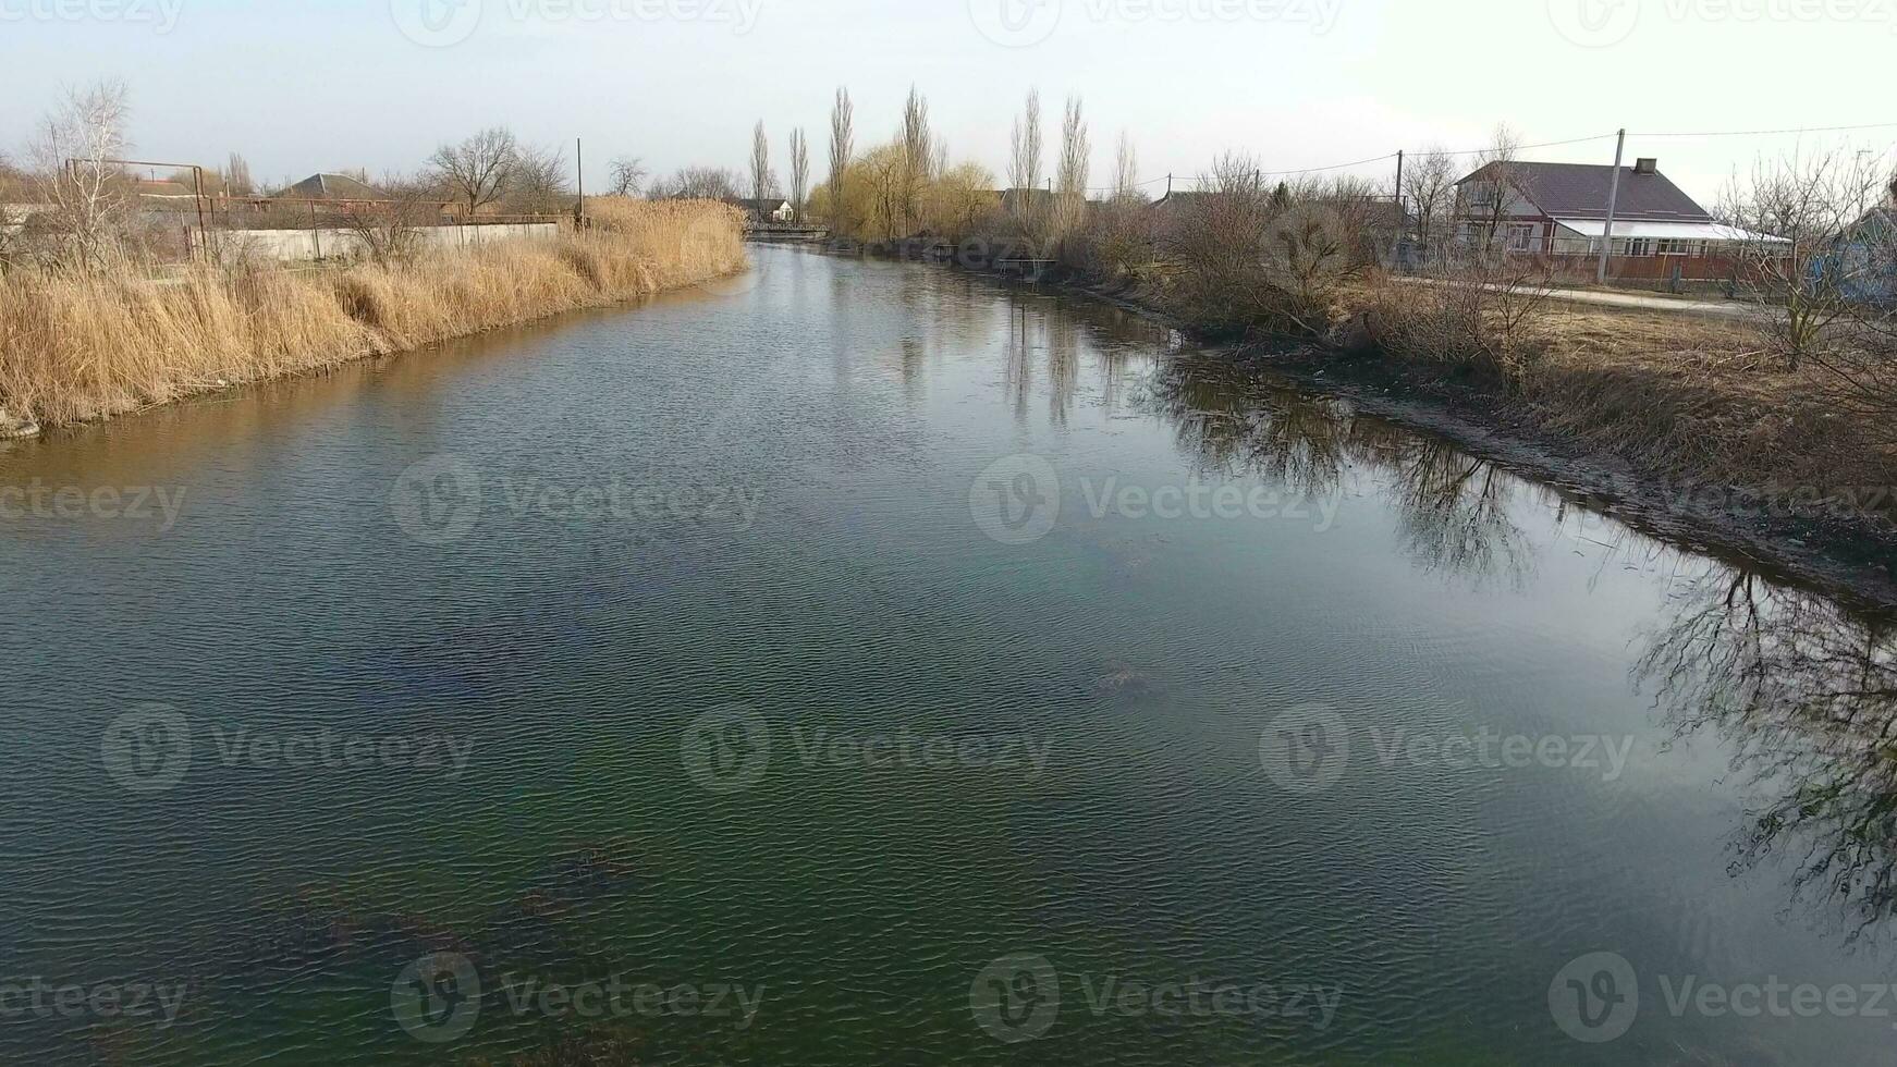
[[[1051,112],[1085,99],[1095,186],[1121,129],[1163,191],[1225,150],[1288,171],[1506,121],[1628,127],[1630,163],[1709,203],[1800,138],[1650,135],[1893,121],[1893,57],[1897,0],[0,0],[0,146],[61,85],[116,76],[146,157],[379,174],[508,125],[569,159],[582,136],[598,184],[620,154],[738,169],[757,119],[780,161],[795,125],[821,157],[838,83],[880,140],[914,81],[952,157],[998,176],[1040,87]],[[1897,127],[1802,144],[1840,140],[1889,152]],[[1527,155],[1611,163],[1612,138]]]

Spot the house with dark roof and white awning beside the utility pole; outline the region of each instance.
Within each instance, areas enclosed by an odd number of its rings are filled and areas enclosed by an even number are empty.
[[[1601,254],[1609,199],[1614,203],[1609,260],[1624,279],[1726,279],[1740,244],[1772,241],[1717,222],[1660,172],[1658,159],[1622,167],[1618,191],[1612,167],[1489,163],[1457,182],[1457,239],[1573,260],[1580,267]]]

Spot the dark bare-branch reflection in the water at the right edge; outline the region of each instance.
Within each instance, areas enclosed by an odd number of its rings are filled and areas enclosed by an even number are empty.
[[[1732,872],[1783,857],[1795,898],[1836,908],[1846,940],[1882,932],[1897,906],[1891,620],[1721,567],[1688,582],[1639,678],[1677,732],[1715,730],[1759,798]]]

